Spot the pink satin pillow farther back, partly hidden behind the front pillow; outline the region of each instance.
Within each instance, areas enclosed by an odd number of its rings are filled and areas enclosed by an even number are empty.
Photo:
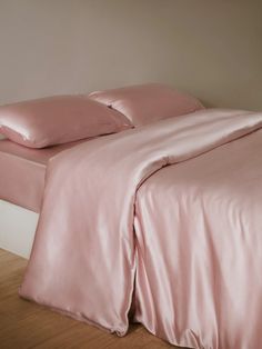
[[[159,83],[97,91],[89,97],[122,112],[134,126],[204,109],[198,99]]]

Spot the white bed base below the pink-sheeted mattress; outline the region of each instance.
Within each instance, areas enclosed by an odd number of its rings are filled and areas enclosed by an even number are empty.
[[[0,248],[29,258],[39,215],[0,200]]]

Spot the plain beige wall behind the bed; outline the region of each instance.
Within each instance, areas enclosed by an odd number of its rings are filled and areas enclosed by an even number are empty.
[[[0,0],[0,103],[148,81],[262,110],[262,1]]]

